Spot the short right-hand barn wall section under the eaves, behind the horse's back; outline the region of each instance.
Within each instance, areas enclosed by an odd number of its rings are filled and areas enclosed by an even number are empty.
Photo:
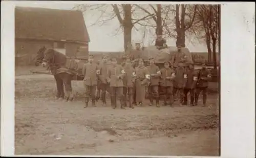
[[[87,46],[87,49],[85,49],[82,52],[77,52],[78,47],[86,47],[86,46]],[[88,44],[66,43],[65,48],[66,48],[66,55],[67,56],[81,57],[81,56],[88,56],[89,55]]]

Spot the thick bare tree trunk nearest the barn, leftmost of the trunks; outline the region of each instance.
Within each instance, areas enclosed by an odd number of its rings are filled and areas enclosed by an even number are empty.
[[[132,48],[132,6],[131,4],[123,5],[124,18],[123,18],[123,41],[124,51],[130,51],[127,49]]]

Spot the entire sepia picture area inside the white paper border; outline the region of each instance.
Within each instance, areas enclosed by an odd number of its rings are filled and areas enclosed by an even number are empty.
[[[14,154],[220,156],[221,10],[15,3]]]

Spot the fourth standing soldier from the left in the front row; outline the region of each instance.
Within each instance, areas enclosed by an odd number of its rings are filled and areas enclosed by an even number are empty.
[[[132,104],[132,95],[134,92],[135,70],[130,59],[126,59],[123,69],[125,71],[125,76],[123,77],[123,104],[126,106],[126,97],[128,97],[129,107],[134,108]]]

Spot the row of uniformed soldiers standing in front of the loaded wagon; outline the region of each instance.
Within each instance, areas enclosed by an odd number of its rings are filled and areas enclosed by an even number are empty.
[[[164,44],[164,42],[160,42]],[[156,42],[157,45],[157,42]],[[158,46],[160,48],[161,46]],[[139,44],[136,43],[136,50],[139,51]],[[198,98],[203,92],[203,105],[206,105],[206,90],[211,78],[210,72],[206,70],[205,63],[202,69],[196,72],[192,63],[185,64],[182,60],[178,66],[170,65],[170,62],[164,62],[164,67],[159,67],[154,63],[154,58],[148,58],[149,65],[145,66],[144,60],[139,58],[139,53],[131,53],[127,56],[123,64],[117,64],[116,58],[110,59],[103,56],[102,62],[94,62],[94,56],[89,56],[89,62],[84,64],[82,72],[84,75],[84,87],[86,89],[85,106],[88,107],[90,98],[92,106],[95,106],[96,88],[101,91],[103,106],[106,106],[106,89],[110,88],[111,106],[117,107],[120,102],[120,108],[129,104],[130,108],[134,105],[142,106],[144,104],[146,88],[150,99],[150,106],[154,104],[159,106],[160,95],[159,87],[163,93],[163,106],[173,106],[174,96],[179,91],[180,105],[187,105],[187,95],[190,94],[190,106],[198,104]],[[137,66],[134,67],[132,61],[137,58]],[[100,93],[98,93],[100,94]],[[98,96],[99,97],[99,96]],[[169,102],[167,102],[169,100]]]

